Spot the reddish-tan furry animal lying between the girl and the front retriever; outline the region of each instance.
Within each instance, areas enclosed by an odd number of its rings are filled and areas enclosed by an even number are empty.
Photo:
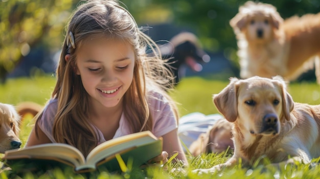
[[[225,119],[219,119],[206,133],[199,135],[198,139],[191,143],[189,151],[193,156],[201,153],[221,153],[232,151],[234,148],[232,140],[232,123]]]

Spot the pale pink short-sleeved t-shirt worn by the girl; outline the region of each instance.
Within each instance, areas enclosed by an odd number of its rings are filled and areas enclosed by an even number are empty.
[[[172,109],[170,108],[167,99],[162,96],[159,93],[156,92],[151,92],[148,95],[148,105],[150,109],[150,115],[153,117],[153,126],[152,126],[152,133],[156,137],[163,136],[169,132],[171,132],[174,129],[177,129],[177,121],[174,116],[174,113]],[[58,108],[58,100],[51,99],[49,103],[45,106],[43,115],[38,121],[38,125],[43,131],[45,135],[51,140],[51,142],[55,143],[55,139],[53,137],[53,123],[54,123],[54,117],[55,114],[57,113],[57,108]],[[129,122],[126,119],[124,114],[122,113],[120,121],[119,121],[119,128],[116,131],[115,136],[113,138],[117,138],[120,136],[125,136],[130,134],[131,132],[131,127],[129,126]],[[92,126],[96,129],[98,139],[98,143],[102,143],[106,141],[103,137],[102,132],[94,125]]]

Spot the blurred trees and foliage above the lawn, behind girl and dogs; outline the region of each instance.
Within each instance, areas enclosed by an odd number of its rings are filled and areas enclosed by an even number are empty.
[[[122,0],[141,27],[153,40],[170,40],[181,31],[196,34],[210,54],[210,64],[199,73],[211,76],[238,75],[237,44],[229,20],[236,15],[240,0]],[[283,18],[317,13],[320,1],[260,1],[277,7]],[[33,75],[36,71],[54,73],[64,38],[67,18],[79,1],[72,0],[2,0],[0,1],[0,79]],[[313,76],[312,76],[313,75]],[[214,75],[216,77],[216,75]],[[310,73],[303,79],[314,79]],[[227,80],[227,79],[225,79]]]

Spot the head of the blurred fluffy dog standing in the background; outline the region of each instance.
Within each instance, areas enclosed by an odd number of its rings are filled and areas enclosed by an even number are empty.
[[[230,20],[236,34],[244,34],[248,41],[271,40],[283,22],[276,7],[265,3],[246,2]]]

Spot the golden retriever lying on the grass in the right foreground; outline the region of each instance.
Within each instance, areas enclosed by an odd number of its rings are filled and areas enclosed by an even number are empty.
[[[320,156],[320,105],[294,103],[282,77],[232,78],[213,101],[233,123],[234,155],[195,172],[215,172],[237,164],[239,158],[242,165],[252,166],[265,156],[279,167],[296,161],[310,164]]]

